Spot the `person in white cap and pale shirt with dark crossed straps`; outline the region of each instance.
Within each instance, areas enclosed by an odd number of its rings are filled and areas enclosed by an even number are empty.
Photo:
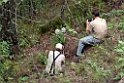
[[[64,46],[57,43],[54,51],[48,54],[47,65],[45,71],[47,74],[54,75],[62,73],[65,66]]]

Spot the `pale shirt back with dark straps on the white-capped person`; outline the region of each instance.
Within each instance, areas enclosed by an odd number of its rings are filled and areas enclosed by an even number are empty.
[[[55,67],[52,66],[52,64],[54,62],[53,57],[54,57],[54,59],[57,57],[56,60],[55,60]],[[48,63],[47,63],[45,71],[47,73],[54,74],[53,70],[55,68],[55,73],[57,74],[59,72],[62,72],[62,70],[63,70],[63,67],[65,65],[65,55],[58,50],[49,51],[47,62]]]

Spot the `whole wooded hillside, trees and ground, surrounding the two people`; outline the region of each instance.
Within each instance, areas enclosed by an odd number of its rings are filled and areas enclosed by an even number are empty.
[[[124,77],[123,0],[1,0],[0,83],[122,83]],[[108,37],[73,59],[85,22],[97,8]],[[44,76],[55,29],[66,26],[64,75]]]

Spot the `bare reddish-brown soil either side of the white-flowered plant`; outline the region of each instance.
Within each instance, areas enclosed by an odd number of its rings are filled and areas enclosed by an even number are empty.
[[[54,49],[54,45],[53,45],[53,42],[50,41],[50,37],[51,35],[49,35],[48,33],[44,34],[44,36],[41,38],[39,42],[27,48],[23,52],[30,54],[36,51],[37,52],[43,51],[47,54],[50,50]],[[64,44],[64,48],[65,48],[64,52],[65,52],[66,59],[69,60],[76,53],[78,38],[66,35],[65,40],[66,40],[66,43]]]

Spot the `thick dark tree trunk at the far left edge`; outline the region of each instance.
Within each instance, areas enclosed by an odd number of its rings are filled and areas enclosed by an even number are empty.
[[[18,34],[17,27],[15,25],[15,9],[14,0],[9,0],[7,3],[2,3],[0,14],[2,14],[0,20],[2,29],[0,31],[0,37],[4,41],[8,41],[10,44],[10,55],[18,53]]]

